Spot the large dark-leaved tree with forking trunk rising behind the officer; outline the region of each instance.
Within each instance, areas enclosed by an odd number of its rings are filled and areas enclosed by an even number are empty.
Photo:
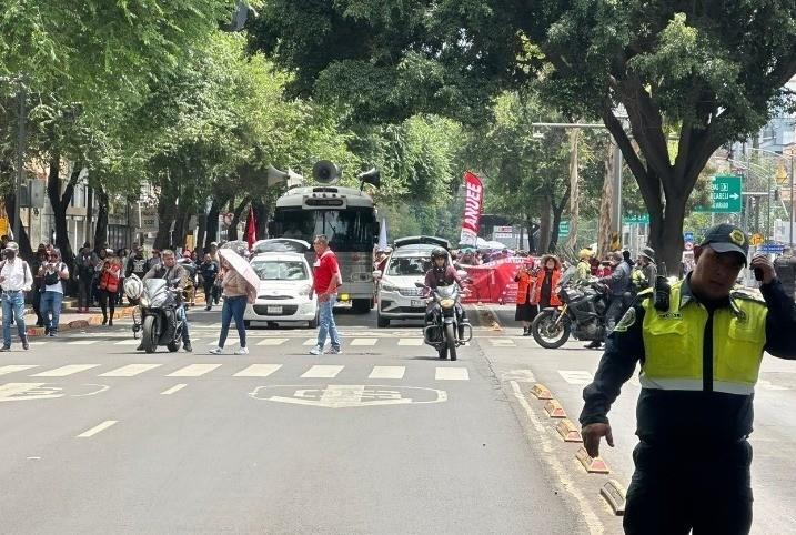
[[[298,70],[298,90],[361,103],[371,118],[480,117],[490,95],[543,77],[567,115],[609,129],[669,262],[707,160],[765,124],[796,74],[790,0],[276,0],[253,33],[254,47]]]

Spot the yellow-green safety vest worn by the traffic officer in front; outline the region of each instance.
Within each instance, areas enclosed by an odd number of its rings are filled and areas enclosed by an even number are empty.
[[[702,391],[707,310],[694,300],[681,307],[683,282],[672,284],[669,310],[659,312],[643,301],[644,350],[639,382],[644,388]],[[733,299],[736,310],[713,313],[713,391],[752,394],[766,344],[765,303]]]

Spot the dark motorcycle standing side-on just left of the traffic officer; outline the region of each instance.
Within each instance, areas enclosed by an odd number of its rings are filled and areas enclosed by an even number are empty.
[[[596,277],[570,284],[573,274],[574,269],[571,268],[562,276],[558,299],[563,305],[540,311],[531,323],[534,340],[547,350],[561,347],[571,335],[591,342],[605,339],[609,290]]]

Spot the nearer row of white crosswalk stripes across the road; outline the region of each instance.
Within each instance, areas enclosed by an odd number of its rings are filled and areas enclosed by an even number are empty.
[[[104,364],[66,364],[50,367],[42,364],[7,364],[0,365],[2,380],[17,380],[19,376],[31,378],[100,378],[100,377],[138,377],[158,375],[164,377],[272,377],[278,380],[295,378],[369,378],[369,380],[403,380],[407,378],[407,366],[386,365],[344,365],[344,364],[271,364],[271,363],[134,363],[117,365]],[[109,370],[110,367],[110,370]],[[365,375],[366,374],[366,375]],[[364,375],[364,377],[363,377]],[[467,366],[415,366],[412,378],[433,381],[470,381]],[[14,383],[11,383],[14,384]],[[0,385],[0,394],[2,393]]]

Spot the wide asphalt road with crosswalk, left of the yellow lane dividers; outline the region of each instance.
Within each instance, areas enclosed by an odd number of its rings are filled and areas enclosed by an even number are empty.
[[[0,531],[617,533],[605,476],[527,395],[548,353],[471,316],[456,362],[416,325],[345,311],[342,355],[309,355],[305,329],[252,329],[249,355],[210,355],[218,312],[191,314],[192,354],[137,353],[123,322],[14,344]]]

